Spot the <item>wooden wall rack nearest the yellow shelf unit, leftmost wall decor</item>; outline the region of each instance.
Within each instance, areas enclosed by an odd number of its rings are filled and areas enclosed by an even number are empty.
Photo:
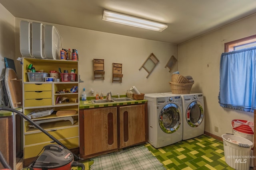
[[[104,59],[93,59],[94,80],[103,79],[105,76]]]

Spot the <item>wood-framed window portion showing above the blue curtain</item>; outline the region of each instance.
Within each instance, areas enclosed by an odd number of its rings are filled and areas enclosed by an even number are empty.
[[[249,48],[256,46],[256,35],[252,35],[250,37],[245,37],[242,39],[237,39],[235,41],[231,41],[224,44],[224,51],[230,52],[239,49]]]

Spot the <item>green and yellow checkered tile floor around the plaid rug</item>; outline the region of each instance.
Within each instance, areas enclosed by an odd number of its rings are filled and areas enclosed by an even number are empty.
[[[207,135],[158,149],[149,143],[145,146],[164,164],[167,170],[234,170],[225,162],[222,141]],[[84,163],[85,170],[89,170],[93,164],[93,160],[81,162]]]

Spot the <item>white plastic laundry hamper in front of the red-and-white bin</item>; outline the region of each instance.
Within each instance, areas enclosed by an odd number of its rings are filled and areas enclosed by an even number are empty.
[[[238,143],[228,141],[228,138]],[[225,161],[228,166],[236,170],[249,170],[251,149],[253,143],[244,137],[224,134],[222,135]]]

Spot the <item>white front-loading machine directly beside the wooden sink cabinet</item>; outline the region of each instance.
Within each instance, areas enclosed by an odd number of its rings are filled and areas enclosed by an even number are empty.
[[[155,148],[182,141],[182,101],[179,95],[145,94],[148,100],[148,142]]]

